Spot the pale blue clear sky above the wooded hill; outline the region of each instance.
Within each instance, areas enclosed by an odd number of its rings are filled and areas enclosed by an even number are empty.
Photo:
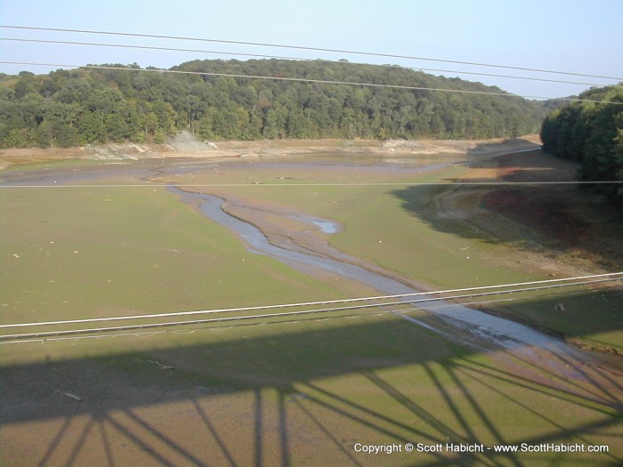
[[[510,93],[563,97],[592,85],[623,81],[623,0],[0,0],[0,25],[97,30],[221,41],[282,44],[401,55],[432,60],[378,57],[346,52],[223,44],[187,40],[104,36],[0,28],[0,38],[184,48],[168,52],[96,45],[42,44],[0,40],[0,61],[52,63],[8,65],[0,72],[48,73],[58,65],[138,63],[170,68],[188,60],[250,57],[253,53],[303,59],[391,64],[459,76]],[[208,53],[206,51],[221,52]],[[435,60],[538,68],[595,76],[546,74],[520,69],[467,66]],[[562,80],[465,75],[487,73]]]

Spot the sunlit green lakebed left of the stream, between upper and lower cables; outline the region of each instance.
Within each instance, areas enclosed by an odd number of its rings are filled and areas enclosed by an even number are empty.
[[[3,324],[371,293],[249,254],[163,188],[3,189],[0,197]]]

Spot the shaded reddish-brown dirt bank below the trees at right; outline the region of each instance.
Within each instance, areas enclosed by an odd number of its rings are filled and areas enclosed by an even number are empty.
[[[554,257],[557,264],[573,272],[595,267],[618,270],[623,264],[623,238],[619,235],[623,218],[619,210],[590,187],[547,184],[575,181],[577,169],[575,163],[537,149],[495,157],[490,167],[476,167],[467,176],[518,183],[482,191],[478,207],[530,230],[530,240],[549,252],[544,258]],[[535,182],[544,184],[521,184]]]

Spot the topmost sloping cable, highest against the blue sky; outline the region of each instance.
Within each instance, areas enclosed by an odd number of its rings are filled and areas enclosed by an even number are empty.
[[[35,28],[35,27],[28,27],[28,26],[8,26],[8,25],[0,25],[0,28],[53,31],[53,32],[64,32],[64,33],[78,33],[78,34],[97,34],[97,35],[107,35],[107,36],[149,37],[149,38],[156,38],[156,39],[210,42],[210,43],[218,43],[218,44],[253,45],[253,46],[259,46],[259,47],[275,47],[275,48],[282,48],[282,49],[295,49],[295,50],[305,50],[305,51],[313,51],[313,52],[348,53],[348,54],[353,54],[353,55],[366,55],[370,57],[384,57],[384,58],[392,58],[392,59],[437,61],[437,62],[443,62],[443,63],[455,63],[455,64],[460,64],[460,65],[470,65],[470,66],[476,66],[476,67],[517,69],[517,70],[522,70],[522,71],[535,71],[538,73],[596,77],[596,78],[603,78],[603,79],[613,79],[613,80],[618,80],[618,81],[623,80],[622,77],[615,77],[615,76],[588,75],[584,73],[574,73],[574,72],[569,72],[569,71],[558,71],[558,70],[541,69],[541,68],[514,67],[514,66],[509,66],[509,65],[479,63],[479,62],[474,62],[474,61],[432,59],[429,57],[415,57],[415,56],[410,56],[410,55],[397,55],[397,54],[392,54],[392,53],[360,52],[360,51],[349,51],[349,50],[342,50],[342,49],[329,49],[329,48],[322,48],[322,47],[306,47],[306,46],[301,46],[301,45],[265,44],[265,43],[245,42],[245,41],[208,39],[208,38],[201,38],[201,37],[161,36],[161,35],[153,35],[153,34],[135,34],[135,33],[125,33],[125,32],[112,32],[112,31],[95,31],[95,30],[87,30],[87,29]]]

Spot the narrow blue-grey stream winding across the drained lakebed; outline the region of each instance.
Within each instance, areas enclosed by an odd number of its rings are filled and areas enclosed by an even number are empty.
[[[421,292],[392,278],[386,278],[381,274],[365,270],[349,262],[340,262],[336,261],[336,259],[313,254],[312,252],[302,253],[272,245],[260,229],[223,211],[223,204],[225,203],[223,198],[207,194],[190,193],[177,187],[169,187],[169,189],[182,197],[184,202],[193,203],[198,201],[201,213],[203,213],[206,218],[236,233],[239,238],[242,238],[246,243],[247,250],[250,253],[269,255],[303,272],[309,272],[310,268],[315,268],[330,274],[351,278],[367,286],[376,288],[376,290],[382,294],[415,294]],[[317,219],[308,214],[302,214],[298,219],[309,223],[312,227],[315,226],[317,229],[322,229],[322,231],[326,233],[334,233],[337,231],[337,224],[326,219]],[[499,345],[516,347],[520,343],[527,343],[559,354],[567,354],[570,351],[570,348],[564,342],[549,335],[542,334],[528,326],[515,323],[514,321],[498,318],[479,310],[473,310],[464,305],[440,301],[421,302],[422,300],[431,298],[426,295],[419,295],[415,298],[419,302],[418,304],[420,307],[428,308],[429,306],[433,306],[433,313],[441,315],[444,318],[450,318],[450,322],[452,320],[458,320],[466,323],[474,334],[478,334]],[[403,300],[405,302],[410,302],[413,299],[404,298]],[[409,321],[419,326],[426,326],[407,315],[401,313],[396,314],[401,318],[409,319]]]

